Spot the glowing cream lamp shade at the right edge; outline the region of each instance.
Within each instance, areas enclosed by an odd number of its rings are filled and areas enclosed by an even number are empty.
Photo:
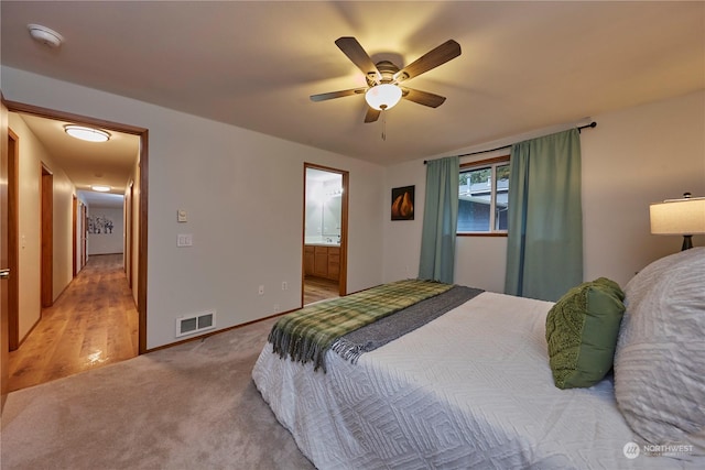
[[[680,236],[705,233],[705,197],[652,204],[649,211],[651,233]]]

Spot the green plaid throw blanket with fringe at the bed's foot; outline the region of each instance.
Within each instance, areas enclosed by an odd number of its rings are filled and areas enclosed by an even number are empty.
[[[269,342],[281,358],[313,361],[314,370],[322,368],[325,372],[325,353],[337,338],[451,287],[434,281],[405,280],[313,304],[280,318],[269,334]]]

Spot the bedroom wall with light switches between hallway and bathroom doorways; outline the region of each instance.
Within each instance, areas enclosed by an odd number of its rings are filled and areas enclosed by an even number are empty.
[[[149,129],[148,348],[176,340],[178,316],[216,309],[226,328],[301,305],[304,162],[349,172],[348,291],[382,280],[379,165],[10,67],[2,92]]]

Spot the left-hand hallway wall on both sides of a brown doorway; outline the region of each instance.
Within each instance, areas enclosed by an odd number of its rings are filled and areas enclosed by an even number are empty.
[[[54,164],[50,152],[26,127],[20,114],[9,113],[9,127],[18,135],[19,162],[19,338],[22,340],[42,315],[41,306],[41,199],[42,163],[52,172],[53,299],[73,278],[74,185]]]

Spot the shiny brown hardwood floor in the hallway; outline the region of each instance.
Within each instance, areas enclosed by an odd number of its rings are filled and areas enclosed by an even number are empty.
[[[15,351],[9,391],[73,375],[138,354],[138,314],[122,254],[91,255]]]

